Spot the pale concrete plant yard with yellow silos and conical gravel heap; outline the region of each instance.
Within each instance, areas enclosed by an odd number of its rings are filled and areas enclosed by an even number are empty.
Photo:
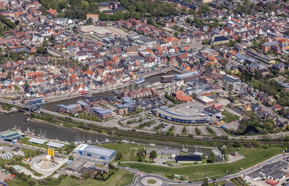
[[[67,158],[54,155],[54,149],[48,148],[48,154],[35,157],[29,162],[31,168],[43,175],[43,178],[52,174],[68,161]]]

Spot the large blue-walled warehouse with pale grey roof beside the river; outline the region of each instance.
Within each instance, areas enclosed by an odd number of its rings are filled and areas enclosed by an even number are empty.
[[[81,156],[105,160],[108,162],[112,161],[116,156],[116,151],[114,150],[88,144],[80,144],[73,150],[73,153],[79,154]]]

